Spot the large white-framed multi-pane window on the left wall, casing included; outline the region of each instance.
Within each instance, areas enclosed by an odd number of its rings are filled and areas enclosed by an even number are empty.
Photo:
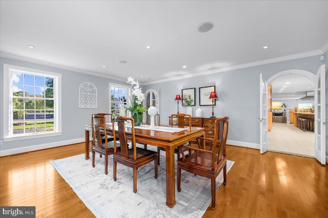
[[[4,140],[58,135],[61,75],[4,64],[4,81]]]

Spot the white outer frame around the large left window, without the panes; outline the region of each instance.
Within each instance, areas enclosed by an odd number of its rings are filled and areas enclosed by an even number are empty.
[[[20,71],[23,74],[31,74],[43,77],[54,78],[53,89],[54,89],[54,131],[52,132],[37,132],[33,134],[12,134],[12,71]],[[4,110],[3,110],[3,139],[4,141],[16,141],[25,140],[32,138],[41,138],[49,136],[61,135],[61,74],[56,74],[54,72],[31,69],[26,67],[14,66],[4,64]]]

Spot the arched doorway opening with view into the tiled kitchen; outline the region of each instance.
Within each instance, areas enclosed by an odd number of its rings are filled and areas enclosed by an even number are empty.
[[[291,73],[288,70],[270,84],[268,82],[272,88],[271,112],[273,115],[272,128],[268,133],[268,149],[273,152],[314,157],[314,122],[309,122],[307,128],[302,128],[303,125],[297,125],[296,117],[314,120],[312,111],[315,84],[308,77],[304,77],[302,72],[297,74],[297,71]],[[284,107],[280,107],[282,105]]]

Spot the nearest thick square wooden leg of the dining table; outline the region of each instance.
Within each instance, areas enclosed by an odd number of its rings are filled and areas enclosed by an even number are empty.
[[[166,205],[173,208],[175,202],[174,147],[166,150]]]

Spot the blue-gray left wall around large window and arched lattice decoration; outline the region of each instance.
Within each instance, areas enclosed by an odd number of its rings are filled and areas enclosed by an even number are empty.
[[[0,59],[0,120],[1,131],[0,138],[3,139],[3,79],[4,79],[4,64],[10,64],[15,66],[22,66],[32,69],[45,70],[61,74],[61,118],[62,118],[62,131],[60,136],[52,136],[45,138],[35,138],[28,140],[17,140],[4,142],[0,147],[1,151],[17,149],[23,147],[37,146],[40,144],[53,144],[55,146],[68,144],[68,142],[76,141],[76,139],[82,139],[84,141],[84,129],[86,124],[91,123],[91,114],[99,112],[109,112],[109,83],[125,84],[125,82],[110,80],[106,78],[95,77],[87,74],[81,74],[64,69],[58,69],[54,67],[48,67],[23,61],[12,60],[8,58]],[[98,90],[98,108],[96,109],[81,109],[78,108],[78,89],[81,83],[91,82]],[[80,140],[81,141],[81,140]]]

